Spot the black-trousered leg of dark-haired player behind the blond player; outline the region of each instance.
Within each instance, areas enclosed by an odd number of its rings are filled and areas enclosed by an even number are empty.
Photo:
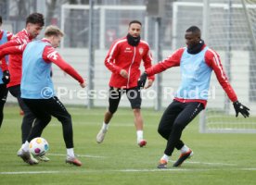
[[[9,92],[17,98],[19,107],[24,111],[24,116],[21,123],[21,139],[22,143],[24,143],[30,134],[32,124],[35,120],[35,116],[32,114],[30,108],[26,104],[24,104],[23,100],[20,97],[20,85],[9,87]]]

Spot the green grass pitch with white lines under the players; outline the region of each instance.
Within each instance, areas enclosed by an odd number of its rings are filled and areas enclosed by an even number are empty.
[[[256,183],[256,134],[201,134],[196,118],[182,139],[194,151],[183,166],[157,169],[166,142],[157,132],[162,112],[142,110],[147,146],[136,145],[134,117],[130,109],[119,109],[105,141],[96,143],[105,109],[68,107],[73,120],[75,153],[83,166],[65,164],[66,149],[61,124],[53,118],[43,132],[49,142],[50,162],[29,166],[17,156],[20,147],[19,107],[6,105],[0,129],[1,185],[254,185]]]

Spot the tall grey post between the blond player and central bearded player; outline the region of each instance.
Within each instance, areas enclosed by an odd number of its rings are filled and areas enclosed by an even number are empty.
[[[94,77],[95,77],[95,54],[94,54],[94,4],[95,0],[90,0],[89,6],[89,38],[88,38],[88,45],[89,45],[89,61],[88,61],[88,80],[87,80],[87,94],[88,94],[88,105],[87,108],[92,108],[94,106],[94,99],[90,97],[90,92],[94,90]]]

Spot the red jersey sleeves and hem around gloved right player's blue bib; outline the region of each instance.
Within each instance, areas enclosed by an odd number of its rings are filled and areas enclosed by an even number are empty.
[[[203,48],[205,46],[206,45],[204,45]],[[173,53],[173,55],[168,56],[165,60],[160,61],[160,63],[158,63],[157,65],[153,66],[152,68],[147,68],[147,70],[146,70],[147,75],[150,76],[153,74],[160,73],[161,71],[164,71],[167,68],[180,66],[181,58],[183,56],[185,49],[186,48],[180,48],[180,49],[176,50]],[[205,53],[204,61],[214,71],[214,73],[217,77],[217,80],[223,87],[224,92],[227,94],[229,99],[232,102],[236,102],[237,94],[233,90],[232,86],[230,85],[230,83],[225,75],[220,56],[215,51],[213,51],[209,48]],[[191,100],[191,99],[188,100],[188,99],[180,99],[180,98],[175,98],[175,100],[180,101],[180,102],[200,102],[204,105],[206,105],[206,103],[207,103],[205,100]]]

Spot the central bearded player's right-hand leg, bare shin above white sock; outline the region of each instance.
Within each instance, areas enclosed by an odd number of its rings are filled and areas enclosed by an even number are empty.
[[[143,138],[143,117],[141,114],[141,94],[137,87],[127,90],[127,98],[130,101],[131,107],[134,111],[134,126],[137,135],[137,144],[143,147],[147,141]]]

